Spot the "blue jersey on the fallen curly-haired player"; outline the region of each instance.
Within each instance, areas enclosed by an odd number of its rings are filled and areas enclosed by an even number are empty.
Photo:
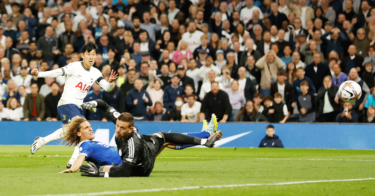
[[[122,163],[120,155],[118,155],[117,149],[115,147],[103,144],[98,141],[86,140],[81,141],[78,144],[80,148],[80,156],[84,154],[86,156],[86,161],[93,162],[96,167],[103,165],[120,165]]]

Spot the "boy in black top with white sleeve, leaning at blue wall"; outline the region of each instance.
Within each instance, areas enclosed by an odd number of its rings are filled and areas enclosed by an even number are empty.
[[[285,123],[289,117],[289,112],[287,105],[282,102],[282,95],[278,92],[275,93],[273,101],[269,110],[269,113],[273,114],[270,122]]]

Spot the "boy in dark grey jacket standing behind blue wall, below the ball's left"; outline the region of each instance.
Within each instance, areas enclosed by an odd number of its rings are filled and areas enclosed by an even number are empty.
[[[309,83],[304,80],[300,84],[301,94],[298,96],[297,108],[300,112],[300,122],[314,122],[315,111],[317,110],[317,101],[314,94],[309,92]]]

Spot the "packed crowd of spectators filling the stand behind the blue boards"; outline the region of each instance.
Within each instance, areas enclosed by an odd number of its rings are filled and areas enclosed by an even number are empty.
[[[63,118],[65,76],[30,72],[80,61],[91,41],[118,79],[84,101],[136,120],[375,122],[372,0],[1,0],[0,13],[0,120]],[[362,87],[353,104],[345,80]]]

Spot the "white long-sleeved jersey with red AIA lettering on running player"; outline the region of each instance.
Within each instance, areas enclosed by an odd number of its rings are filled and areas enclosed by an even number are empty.
[[[81,108],[83,99],[94,82],[98,83],[107,92],[110,92],[114,85],[114,83],[105,81],[102,73],[97,68],[86,69],[82,61],[75,61],[52,71],[41,71],[37,77],[57,76],[66,76],[64,91],[57,106],[75,104]]]

